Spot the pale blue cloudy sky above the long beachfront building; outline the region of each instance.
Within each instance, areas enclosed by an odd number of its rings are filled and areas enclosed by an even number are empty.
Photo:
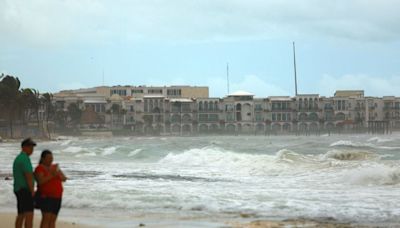
[[[211,97],[400,96],[398,0],[0,0],[0,73],[41,92],[209,86]],[[103,77],[104,75],[104,77]]]

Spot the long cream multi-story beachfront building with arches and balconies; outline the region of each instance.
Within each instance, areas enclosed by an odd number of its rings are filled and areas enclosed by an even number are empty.
[[[239,91],[208,97],[208,88],[114,86],[62,91],[59,110],[71,104],[85,115],[81,128],[127,129],[138,134],[308,133],[365,130],[371,123],[400,129],[400,98],[364,97],[364,91],[336,91],[333,97],[254,98]],[[94,118],[94,120],[90,120]]]

